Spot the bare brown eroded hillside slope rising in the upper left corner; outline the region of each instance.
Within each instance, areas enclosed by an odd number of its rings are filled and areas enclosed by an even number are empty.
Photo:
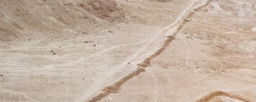
[[[124,13],[114,1],[1,1],[1,41],[28,33],[88,28],[100,18],[122,20]]]

